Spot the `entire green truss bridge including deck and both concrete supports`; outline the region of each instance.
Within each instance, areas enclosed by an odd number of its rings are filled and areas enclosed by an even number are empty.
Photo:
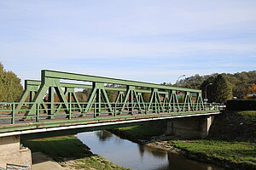
[[[90,92],[86,100],[78,98],[78,89]],[[110,95],[115,97],[113,101]],[[203,103],[197,89],[43,70],[40,81],[25,81],[19,102],[0,103],[0,167],[31,163],[30,150],[20,148],[20,135],[33,133],[40,138],[51,132],[75,133],[165,120],[169,133],[202,138],[207,136],[212,116],[221,109],[223,105]]]

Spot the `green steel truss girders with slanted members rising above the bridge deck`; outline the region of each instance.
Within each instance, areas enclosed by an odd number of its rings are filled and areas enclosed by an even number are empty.
[[[93,85],[84,85],[84,84],[73,84],[73,83],[63,83],[60,82],[61,79],[68,80],[77,80],[82,82],[92,82]],[[41,84],[40,84],[41,83]],[[113,88],[105,87],[104,83],[114,83],[119,85],[125,85],[125,88]],[[37,110],[38,104],[43,103],[44,95],[49,91],[49,118],[54,118],[55,112],[61,110],[61,106],[64,108],[64,111],[68,115],[67,117],[71,119],[72,105],[76,105],[76,111],[81,112],[81,116],[90,112],[91,108],[94,108],[94,116],[99,116],[102,113],[102,105],[108,110],[108,114],[114,115],[116,113],[122,114],[125,109],[128,110],[129,114],[133,114],[134,110],[137,110],[138,113],[142,113],[143,110],[147,113],[149,110],[153,112],[165,112],[165,111],[182,111],[180,109],[180,104],[177,100],[176,90],[184,91],[186,96],[183,103],[183,111],[203,109],[203,103],[201,99],[201,90],[189,89],[189,88],[176,88],[169,87],[159,84],[153,84],[148,82],[135,82],[135,81],[126,81],[121,79],[113,79],[108,77],[93,77],[88,75],[73,74],[60,71],[42,71],[42,80],[40,81],[27,81],[27,87],[38,88],[37,94],[32,99],[33,104],[29,106],[29,109],[26,111],[25,116],[34,115]],[[61,88],[65,87],[65,92]],[[150,88],[147,89],[139,89]],[[74,93],[74,88],[90,88],[92,89],[90,98],[87,101],[87,104],[82,107],[79,104],[79,100],[76,98]],[[61,100],[61,105],[58,106],[57,110],[54,105],[54,90],[59,99]],[[119,94],[115,103],[110,103],[106,90],[117,90]],[[24,92],[27,94],[27,92]],[[143,101],[142,93],[150,93],[150,101],[148,105]],[[190,93],[197,94],[195,108],[193,108],[192,100]],[[25,95],[24,94],[24,95]],[[163,101],[161,101],[160,95],[164,96]],[[72,101],[72,97],[74,103]],[[21,98],[23,99],[23,97]],[[25,100],[24,100],[25,101]],[[20,100],[20,103],[24,102]],[[186,107],[185,107],[186,105]],[[93,107],[94,106],[94,107]],[[117,107],[118,106],[118,107]],[[114,108],[113,108],[114,107]],[[118,109],[117,109],[118,108]],[[55,111],[56,110],[56,111]]]

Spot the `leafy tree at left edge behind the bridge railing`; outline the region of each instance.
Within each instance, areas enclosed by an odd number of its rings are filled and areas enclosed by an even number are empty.
[[[0,102],[18,101],[22,91],[20,78],[13,71],[5,71],[0,63]]]

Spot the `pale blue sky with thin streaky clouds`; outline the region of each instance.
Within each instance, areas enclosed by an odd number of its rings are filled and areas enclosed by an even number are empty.
[[[141,82],[256,70],[255,0],[0,0],[0,62]]]

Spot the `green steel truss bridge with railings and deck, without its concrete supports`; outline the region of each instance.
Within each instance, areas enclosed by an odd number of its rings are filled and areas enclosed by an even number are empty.
[[[90,89],[87,101],[79,101],[77,88]],[[109,101],[108,91],[116,91],[115,101]],[[183,92],[182,101],[177,92]],[[148,101],[144,101],[143,94],[150,94]],[[198,89],[43,70],[41,81],[25,81],[19,102],[0,103],[0,136],[49,127],[198,116],[221,108],[223,105],[204,104]]]

